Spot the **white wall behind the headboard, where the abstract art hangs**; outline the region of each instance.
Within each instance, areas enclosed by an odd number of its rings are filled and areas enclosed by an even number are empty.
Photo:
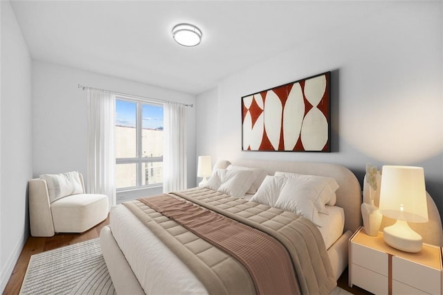
[[[214,107],[218,114],[202,132],[197,125],[197,150],[217,151],[219,160],[339,163],[360,180],[367,162],[422,166],[443,213],[442,10],[436,1],[386,3],[369,19],[221,80],[197,97],[197,118]],[[241,151],[242,96],[325,71],[332,71],[331,153]],[[210,143],[206,130],[217,132]]]

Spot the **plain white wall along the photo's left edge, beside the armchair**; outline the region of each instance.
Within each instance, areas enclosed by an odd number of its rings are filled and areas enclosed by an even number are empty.
[[[32,177],[31,59],[8,1],[1,7],[0,291],[28,238]]]

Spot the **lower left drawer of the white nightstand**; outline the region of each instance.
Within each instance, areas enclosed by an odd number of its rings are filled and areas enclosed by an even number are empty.
[[[388,294],[388,277],[359,265],[352,265],[352,284],[374,294]]]

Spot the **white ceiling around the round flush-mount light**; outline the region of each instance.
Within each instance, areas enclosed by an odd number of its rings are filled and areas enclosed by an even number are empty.
[[[30,55],[199,94],[237,71],[386,6],[381,1],[11,1]],[[172,39],[198,26],[201,44]]]

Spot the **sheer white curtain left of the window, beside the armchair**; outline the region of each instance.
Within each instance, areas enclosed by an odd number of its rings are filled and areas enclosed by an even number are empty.
[[[87,192],[107,195],[110,206],[116,204],[115,118],[115,94],[88,90]]]

